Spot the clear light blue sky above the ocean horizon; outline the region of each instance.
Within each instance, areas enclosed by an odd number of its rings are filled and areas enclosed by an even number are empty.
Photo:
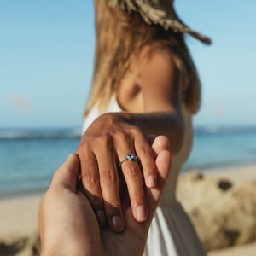
[[[195,125],[256,125],[256,1],[176,0],[203,85]],[[0,128],[82,124],[94,55],[90,0],[0,1]]]

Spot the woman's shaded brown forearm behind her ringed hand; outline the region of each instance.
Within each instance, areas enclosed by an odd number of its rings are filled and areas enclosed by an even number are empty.
[[[165,135],[170,140],[170,151],[172,154],[182,148],[184,136],[183,117],[178,113],[152,112],[131,113],[137,125],[148,135]]]

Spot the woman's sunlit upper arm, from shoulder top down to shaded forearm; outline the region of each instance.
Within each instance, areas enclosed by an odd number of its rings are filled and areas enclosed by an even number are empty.
[[[175,57],[167,49],[148,49],[142,52],[139,84],[147,111],[180,108],[182,76]]]

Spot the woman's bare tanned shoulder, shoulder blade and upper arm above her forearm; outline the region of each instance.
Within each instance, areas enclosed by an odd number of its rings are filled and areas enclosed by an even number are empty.
[[[132,112],[172,110],[178,103],[180,83],[172,53],[146,45],[119,84],[119,104]]]

